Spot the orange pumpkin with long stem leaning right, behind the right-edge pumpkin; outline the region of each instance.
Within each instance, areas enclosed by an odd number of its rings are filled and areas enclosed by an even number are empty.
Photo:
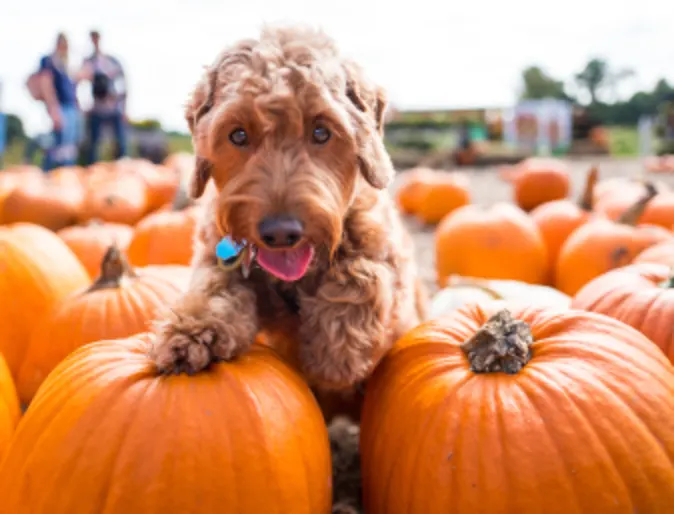
[[[593,278],[630,264],[646,248],[670,239],[672,234],[662,227],[635,226],[655,194],[651,188],[618,221],[598,218],[573,232],[557,259],[557,289],[573,296]]]

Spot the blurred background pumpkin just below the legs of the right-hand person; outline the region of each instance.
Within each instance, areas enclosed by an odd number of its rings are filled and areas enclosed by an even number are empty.
[[[109,173],[90,177],[80,221],[100,219],[135,225],[148,210],[147,186],[136,175]]]

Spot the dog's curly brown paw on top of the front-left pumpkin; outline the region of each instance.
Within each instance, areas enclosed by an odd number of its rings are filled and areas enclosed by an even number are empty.
[[[157,328],[152,357],[162,373],[194,374],[214,361],[235,358],[250,344],[236,327],[183,318]]]

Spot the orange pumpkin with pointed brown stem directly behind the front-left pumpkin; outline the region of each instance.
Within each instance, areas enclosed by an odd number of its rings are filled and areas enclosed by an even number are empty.
[[[185,274],[161,266],[134,270],[114,246],[99,266],[89,288],[57,304],[33,331],[17,380],[24,405],[73,350],[147,331],[160,309],[187,289]]]

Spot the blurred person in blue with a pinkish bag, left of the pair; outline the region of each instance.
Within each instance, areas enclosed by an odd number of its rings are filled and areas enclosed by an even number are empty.
[[[36,100],[44,102],[53,130],[44,153],[43,169],[49,171],[77,162],[79,106],[76,84],[68,74],[68,39],[59,33],[56,48],[40,59],[36,73],[28,79],[28,89]]]

